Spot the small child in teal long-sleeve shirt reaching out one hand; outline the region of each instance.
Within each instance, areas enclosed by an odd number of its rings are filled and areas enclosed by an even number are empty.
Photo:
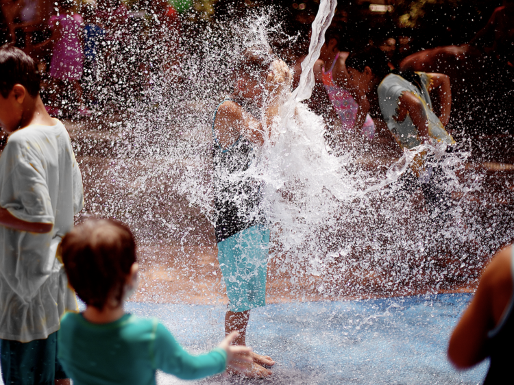
[[[62,317],[58,336],[58,358],[73,384],[156,384],[158,369],[193,380],[252,362],[251,349],[230,345],[236,332],[192,356],[156,319],[123,311],[138,272],[136,244],[125,225],[88,221],[64,237],[61,251],[69,282],[87,306]]]

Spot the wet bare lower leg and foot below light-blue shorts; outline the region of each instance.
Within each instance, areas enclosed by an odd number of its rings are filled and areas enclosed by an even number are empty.
[[[234,340],[234,345],[246,345],[246,327],[248,325],[249,318],[249,310],[246,310],[245,312],[228,311],[227,314],[225,314],[225,334],[228,335],[231,332],[234,332],[234,330],[239,332],[238,338]],[[261,365],[271,367],[275,364],[275,361],[273,361],[271,357],[260,356],[260,354],[253,351],[251,354],[254,359],[254,363],[249,364],[246,373],[237,372],[237,374],[244,374],[247,377],[268,377],[271,375],[271,371]],[[232,371],[232,373],[236,372]]]

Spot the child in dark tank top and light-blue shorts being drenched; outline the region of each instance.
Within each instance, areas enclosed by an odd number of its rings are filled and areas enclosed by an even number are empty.
[[[269,228],[262,215],[260,183],[245,172],[264,144],[273,118],[290,90],[291,73],[266,50],[247,49],[234,69],[234,91],[218,106],[212,122],[215,234],[218,260],[229,299],[225,332],[246,344],[250,309],[265,306]],[[259,117],[263,116],[263,119]],[[275,363],[252,351],[247,377],[267,377]]]

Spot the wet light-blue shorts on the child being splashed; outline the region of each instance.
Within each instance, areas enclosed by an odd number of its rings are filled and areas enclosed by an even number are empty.
[[[256,225],[218,243],[228,308],[232,312],[265,306],[269,229]]]

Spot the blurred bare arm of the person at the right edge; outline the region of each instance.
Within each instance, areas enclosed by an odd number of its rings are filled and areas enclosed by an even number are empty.
[[[452,333],[448,358],[458,369],[472,367],[487,352],[487,333],[498,325],[512,293],[511,247],[500,251],[482,274],[469,307]]]

